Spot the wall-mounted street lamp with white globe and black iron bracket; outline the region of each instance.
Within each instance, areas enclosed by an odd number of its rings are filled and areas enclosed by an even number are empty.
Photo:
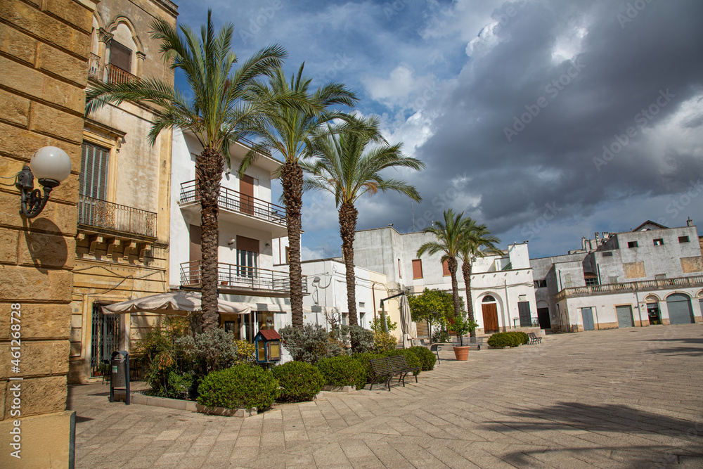
[[[30,166],[32,169],[30,169]],[[30,160],[30,166],[25,165],[17,174],[15,186],[20,189],[22,208],[20,214],[27,218],[34,218],[44,210],[46,201],[49,200],[51,190],[61,184],[71,174],[71,159],[64,150],[55,146],[39,148]],[[32,173],[34,170],[34,173]],[[39,189],[34,188],[34,176],[39,184],[44,187],[44,195]]]

